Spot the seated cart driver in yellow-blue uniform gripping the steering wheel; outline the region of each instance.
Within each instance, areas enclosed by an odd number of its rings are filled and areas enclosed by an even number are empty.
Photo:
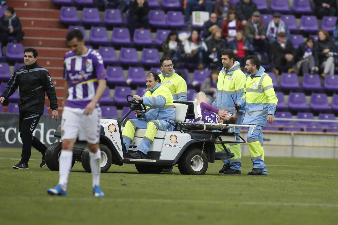
[[[158,74],[150,72],[146,76],[147,91],[141,97],[134,95],[134,99],[142,102],[147,112],[142,114],[135,110],[137,119],[130,119],[122,131],[123,143],[128,151],[137,129],[147,129],[137,152],[130,153],[129,158],[145,159],[158,130],[173,131],[175,128],[170,123],[175,121],[175,108],[172,94],[167,87],[161,84]]]

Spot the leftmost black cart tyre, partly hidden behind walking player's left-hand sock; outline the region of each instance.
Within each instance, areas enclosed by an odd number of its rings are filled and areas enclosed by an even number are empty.
[[[61,142],[52,143],[46,150],[46,164],[49,170],[58,171],[59,170],[59,157],[62,149]],[[75,160],[72,161],[72,167],[75,164]]]

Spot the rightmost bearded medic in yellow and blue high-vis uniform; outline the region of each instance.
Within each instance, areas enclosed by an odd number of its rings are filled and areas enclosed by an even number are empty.
[[[248,175],[266,175],[264,162],[262,127],[266,121],[273,123],[278,99],[273,89],[271,77],[260,66],[256,55],[248,56],[245,69],[250,74],[247,76],[244,95],[239,102],[241,109],[245,108],[243,125],[257,125],[249,128],[247,143],[254,166]],[[251,59],[251,60],[250,60]],[[257,65],[258,64],[258,65]]]

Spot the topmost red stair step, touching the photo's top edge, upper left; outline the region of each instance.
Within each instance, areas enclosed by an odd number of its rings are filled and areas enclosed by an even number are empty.
[[[58,6],[51,0],[8,0],[7,5],[14,8],[58,9]]]

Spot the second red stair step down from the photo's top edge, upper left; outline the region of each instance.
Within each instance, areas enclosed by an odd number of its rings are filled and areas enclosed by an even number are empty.
[[[18,17],[59,19],[60,10],[43,8],[15,8]]]

